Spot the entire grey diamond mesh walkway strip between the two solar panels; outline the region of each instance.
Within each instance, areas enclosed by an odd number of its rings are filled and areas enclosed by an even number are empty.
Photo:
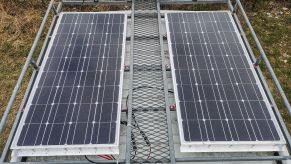
[[[135,1],[131,162],[167,163],[170,148],[156,1]]]

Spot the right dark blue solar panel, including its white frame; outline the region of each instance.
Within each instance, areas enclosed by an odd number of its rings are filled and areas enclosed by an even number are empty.
[[[181,150],[268,151],[284,144],[231,14],[168,13],[166,21]],[[219,143],[236,146],[210,148]]]

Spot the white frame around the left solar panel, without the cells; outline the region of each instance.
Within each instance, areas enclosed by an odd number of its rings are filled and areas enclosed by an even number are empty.
[[[123,22],[123,35],[122,38],[122,52],[121,52],[121,70],[120,70],[120,84],[118,91],[118,107],[117,107],[117,120],[116,120],[116,132],[115,132],[115,142],[113,144],[78,144],[78,145],[42,145],[42,146],[18,146],[17,142],[20,137],[23,125],[25,123],[26,117],[29,112],[29,107],[33,101],[34,95],[40,78],[45,68],[45,63],[49,58],[49,54],[52,50],[54,39],[56,38],[59,26],[63,15],[65,14],[121,14],[124,15]],[[124,74],[124,60],[125,60],[125,43],[126,43],[126,32],[127,32],[127,14],[126,12],[62,12],[59,15],[59,19],[55,25],[51,41],[48,45],[47,51],[43,59],[43,64],[39,69],[39,73],[36,77],[34,86],[32,88],[31,94],[28,98],[26,107],[24,108],[21,121],[18,125],[18,129],[14,136],[11,149],[17,152],[17,156],[61,156],[61,155],[96,155],[96,154],[119,154],[119,135],[120,135],[120,117],[121,117],[121,106],[122,106],[122,89],[123,89],[123,74]]]

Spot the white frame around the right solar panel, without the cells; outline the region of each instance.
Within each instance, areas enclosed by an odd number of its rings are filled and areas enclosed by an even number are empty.
[[[174,57],[173,57],[173,49],[172,49],[172,41],[171,41],[171,35],[170,35],[170,28],[169,28],[169,18],[168,14],[172,13],[227,13],[229,16],[231,23],[235,29],[235,33],[239,39],[239,43],[241,44],[241,47],[243,48],[244,55],[246,55],[248,64],[251,66],[253,65],[249,53],[246,49],[246,46],[240,37],[239,30],[234,22],[234,19],[232,18],[230,11],[169,11],[165,12],[165,24],[166,24],[166,31],[167,31],[167,40],[168,40],[168,46],[169,46],[169,56],[170,56],[170,63],[171,63],[171,74],[172,74],[172,80],[173,80],[173,88],[174,88],[174,95],[175,95],[175,102],[176,102],[176,111],[177,111],[177,122],[178,122],[178,129],[179,129],[179,137],[181,141],[181,152],[252,152],[252,151],[280,151],[283,147],[283,145],[286,144],[286,141],[284,139],[283,133],[280,129],[280,126],[277,122],[277,119],[272,111],[272,106],[266,96],[266,93],[263,89],[263,86],[260,82],[260,79],[254,69],[254,67],[251,67],[252,74],[255,76],[255,80],[257,84],[259,84],[259,90],[263,96],[263,100],[266,102],[268,112],[271,116],[271,119],[274,122],[275,128],[278,132],[278,135],[280,137],[279,141],[185,141],[184,138],[184,129],[182,125],[182,115],[180,110],[180,104],[178,100],[178,88],[177,88],[177,78],[175,73],[175,67],[174,67]]]

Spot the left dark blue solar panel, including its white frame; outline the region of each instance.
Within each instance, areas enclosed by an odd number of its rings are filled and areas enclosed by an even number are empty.
[[[14,149],[102,145],[118,153],[125,21],[124,14],[61,14]]]

